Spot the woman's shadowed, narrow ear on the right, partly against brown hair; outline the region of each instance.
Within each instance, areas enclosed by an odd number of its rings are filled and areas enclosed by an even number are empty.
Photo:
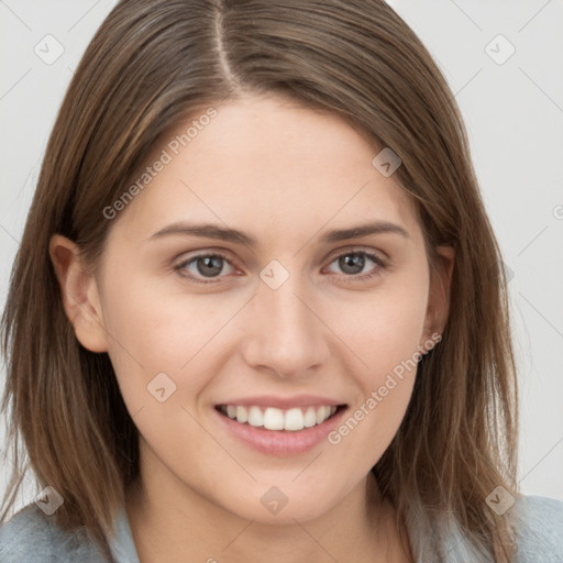
[[[422,342],[432,334],[442,334],[450,311],[450,289],[455,260],[453,246],[437,246],[437,261],[430,268],[430,288]]]

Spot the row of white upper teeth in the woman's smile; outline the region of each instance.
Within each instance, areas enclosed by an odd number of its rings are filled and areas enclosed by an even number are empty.
[[[223,413],[241,423],[266,430],[299,431],[322,424],[329,417],[336,412],[336,407],[323,405],[321,407],[308,407],[307,409],[292,408],[288,410],[267,407],[264,411],[261,407],[241,407],[228,405],[221,407]]]

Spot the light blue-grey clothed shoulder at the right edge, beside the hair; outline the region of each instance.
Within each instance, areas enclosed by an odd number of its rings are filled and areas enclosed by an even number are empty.
[[[563,563],[563,501],[520,496],[509,519],[517,534],[517,563]]]

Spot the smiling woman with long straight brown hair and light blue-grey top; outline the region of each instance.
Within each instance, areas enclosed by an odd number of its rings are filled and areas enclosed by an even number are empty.
[[[563,556],[563,504],[518,492],[500,265],[453,96],[383,1],[120,2],[4,312],[42,492],[2,561]]]

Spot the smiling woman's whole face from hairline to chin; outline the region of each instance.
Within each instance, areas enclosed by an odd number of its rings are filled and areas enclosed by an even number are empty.
[[[100,217],[99,324],[77,335],[109,353],[146,483],[303,521],[365,485],[445,297],[413,206],[354,129],[278,98],[214,110]]]

